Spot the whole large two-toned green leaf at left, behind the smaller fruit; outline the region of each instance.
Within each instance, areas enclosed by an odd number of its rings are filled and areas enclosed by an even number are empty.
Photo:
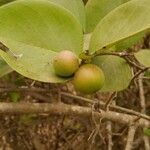
[[[0,51],[20,74],[43,82],[63,82],[55,76],[52,60],[61,50],[77,55],[83,49],[82,27],[66,9],[47,0],[19,0],[0,7],[0,41],[19,59]]]

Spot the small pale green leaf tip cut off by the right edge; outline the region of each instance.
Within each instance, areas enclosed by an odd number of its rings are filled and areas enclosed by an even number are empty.
[[[145,67],[150,67],[150,49],[140,50],[135,53],[135,58]]]

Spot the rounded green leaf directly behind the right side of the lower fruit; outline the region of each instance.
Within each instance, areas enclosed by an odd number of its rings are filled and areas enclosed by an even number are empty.
[[[130,84],[132,70],[123,58],[118,56],[97,56],[94,58],[93,63],[104,71],[105,84],[101,91],[121,91]]]

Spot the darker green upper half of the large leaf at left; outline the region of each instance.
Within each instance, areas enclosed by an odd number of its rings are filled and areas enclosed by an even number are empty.
[[[1,37],[41,48],[80,53],[80,24],[63,8],[47,0],[19,0],[0,8]]]

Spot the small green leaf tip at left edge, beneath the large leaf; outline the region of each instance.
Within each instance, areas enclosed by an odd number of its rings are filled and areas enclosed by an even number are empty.
[[[13,69],[10,68],[7,63],[0,57],[0,78],[12,71]]]

